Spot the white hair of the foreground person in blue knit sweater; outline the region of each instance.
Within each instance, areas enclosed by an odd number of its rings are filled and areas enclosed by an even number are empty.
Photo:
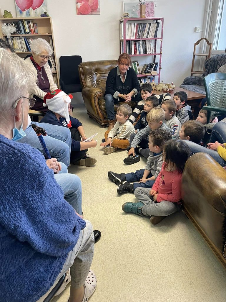
[[[12,117],[14,103],[34,86],[33,76],[17,54],[0,48],[0,123]]]

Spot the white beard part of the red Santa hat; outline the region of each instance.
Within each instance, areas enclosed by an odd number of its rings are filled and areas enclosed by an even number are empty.
[[[71,103],[71,98],[63,91],[56,94],[53,98],[46,98],[48,109],[54,113],[58,113],[61,117],[65,117],[67,124],[70,122],[68,104]]]

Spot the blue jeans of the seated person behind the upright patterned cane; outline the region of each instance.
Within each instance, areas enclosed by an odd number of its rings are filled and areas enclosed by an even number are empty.
[[[58,162],[63,162],[68,167],[71,153],[71,132],[69,128],[47,123],[32,123],[46,130],[48,135],[44,136],[43,139],[49,150],[50,156],[55,157]],[[44,155],[39,138],[31,125],[24,132],[27,135],[18,140],[18,142],[27,143],[35,149],[38,149]]]

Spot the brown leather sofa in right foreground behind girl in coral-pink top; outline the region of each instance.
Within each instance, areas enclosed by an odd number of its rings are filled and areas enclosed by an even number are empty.
[[[196,153],[181,187],[185,214],[226,268],[226,171],[208,154]]]

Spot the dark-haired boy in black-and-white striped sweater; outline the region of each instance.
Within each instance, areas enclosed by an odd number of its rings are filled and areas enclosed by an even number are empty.
[[[136,122],[139,114],[141,114],[141,112],[144,110],[144,102],[145,102],[146,98],[151,96],[152,93],[153,93],[153,91],[152,91],[151,84],[145,83],[140,87],[140,94],[141,94],[142,100],[139,101],[137,103],[137,106],[133,109],[133,113],[129,117],[130,123],[133,124],[134,122]],[[167,93],[163,93],[162,95],[155,95],[155,98],[157,98],[158,104],[161,104],[165,100],[170,100],[171,95],[170,95],[170,93],[167,92]],[[157,107],[158,104],[153,107]]]

